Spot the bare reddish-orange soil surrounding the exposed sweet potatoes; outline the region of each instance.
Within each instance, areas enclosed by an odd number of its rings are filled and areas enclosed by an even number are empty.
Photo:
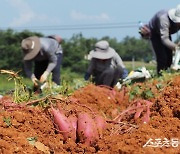
[[[134,100],[129,100],[129,88],[121,91],[90,84],[75,91],[70,97],[49,98],[53,104],[64,110],[66,116],[77,115],[85,111],[94,117],[101,115],[107,120],[103,136],[94,145],[87,146],[68,139],[63,142],[61,133],[54,127],[49,108],[31,106],[8,106],[11,97],[0,100],[0,153],[146,153],[178,154],[180,145],[171,142],[160,147],[155,146],[165,140],[180,142],[180,76],[164,81],[164,87],[157,88],[158,81],[135,84],[143,88],[151,87],[155,94],[150,107],[148,123],[142,122],[142,116],[134,120],[134,113],[128,112],[121,124],[112,123],[115,117],[126,110]],[[140,99],[136,97],[135,100]],[[146,113],[146,110],[142,112]],[[9,119],[9,121],[8,121]],[[36,138],[32,145],[30,138]],[[29,140],[28,140],[29,139]],[[153,145],[145,144],[151,140]],[[167,142],[166,142],[167,143]],[[143,147],[145,146],[145,147]]]

